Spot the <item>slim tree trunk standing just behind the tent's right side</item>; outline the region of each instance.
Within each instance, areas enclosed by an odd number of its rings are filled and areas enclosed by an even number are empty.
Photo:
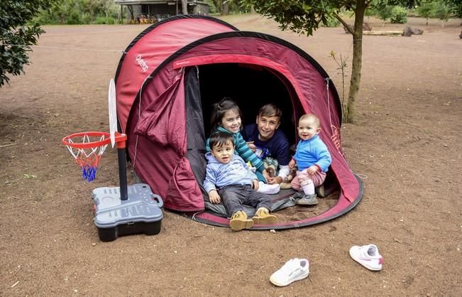
[[[356,1],[355,27],[353,32],[353,62],[351,65],[350,91],[343,120],[353,123],[355,116],[355,104],[358,99],[359,85],[361,84],[361,67],[363,64],[363,22],[365,0]]]

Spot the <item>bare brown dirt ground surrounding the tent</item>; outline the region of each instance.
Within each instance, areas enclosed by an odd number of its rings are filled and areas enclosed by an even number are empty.
[[[329,53],[351,62],[342,28],[307,38],[259,16],[225,20],[303,48],[341,94]],[[374,30],[404,28],[369,21]],[[109,79],[146,26],[46,26],[26,75],[0,89],[0,295],[461,296],[462,28],[460,20],[444,28],[409,23],[424,34],[363,38],[356,123],[341,129],[348,162],[364,180],[354,210],[276,233],[231,232],[165,211],[160,234],[108,243],[98,239],[90,193],[118,185],[116,150],[106,151],[97,180],[87,183],[60,141],[109,131]],[[382,271],[348,255],[369,243],[385,258]],[[310,260],[309,278],[270,284],[293,257]]]

